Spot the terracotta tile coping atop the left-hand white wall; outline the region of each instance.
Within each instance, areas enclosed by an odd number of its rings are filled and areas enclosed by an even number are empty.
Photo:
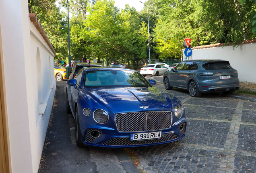
[[[54,55],[56,55],[56,52],[55,52],[55,50],[54,50],[54,48],[53,48],[49,38],[45,34],[45,32],[43,30],[43,27],[41,26],[41,23],[39,22],[39,20],[38,20],[37,16],[35,15],[35,13],[29,13],[29,18],[30,18],[31,22],[33,22],[33,24],[35,25],[35,27],[37,28],[37,30],[39,31],[39,33],[41,34],[41,36],[43,37],[45,42],[51,48],[52,52],[54,52]]]

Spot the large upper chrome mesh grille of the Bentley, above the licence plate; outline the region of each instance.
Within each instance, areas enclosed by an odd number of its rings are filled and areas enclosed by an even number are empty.
[[[119,132],[145,132],[169,129],[170,111],[151,111],[117,114],[116,127]]]

